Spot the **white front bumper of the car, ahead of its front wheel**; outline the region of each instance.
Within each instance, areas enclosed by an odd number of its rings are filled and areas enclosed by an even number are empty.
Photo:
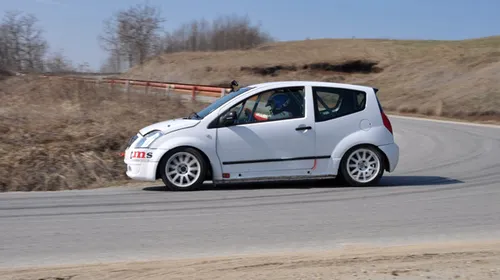
[[[138,181],[156,181],[156,169],[158,167],[158,161],[151,160],[148,158],[137,158],[133,157],[134,152],[152,152],[149,149],[130,149],[125,151],[125,164],[127,165],[127,176],[130,179]]]

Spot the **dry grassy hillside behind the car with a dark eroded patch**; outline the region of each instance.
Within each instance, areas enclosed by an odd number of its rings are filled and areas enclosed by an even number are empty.
[[[380,88],[393,112],[500,119],[500,36],[464,41],[322,39],[166,54],[125,77],[226,85],[321,80]]]

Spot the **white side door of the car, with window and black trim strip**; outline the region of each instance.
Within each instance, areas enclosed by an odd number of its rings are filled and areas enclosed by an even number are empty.
[[[289,97],[292,116],[265,119],[269,114],[266,103],[276,94]],[[257,93],[221,114],[216,149],[225,177],[308,174],[314,165],[316,140],[312,102],[306,100],[312,100],[309,88],[277,88]],[[224,125],[222,119],[229,111],[236,112],[237,122]]]

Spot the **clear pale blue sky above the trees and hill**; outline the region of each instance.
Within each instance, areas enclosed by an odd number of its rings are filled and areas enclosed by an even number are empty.
[[[164,28],[248,15],[278,41],[306,38],[460,40],[500,35],[500,0],[0,0],[0,13],[32,13],[51,51],[98,70],[103,21],[139,3],[161,9]]]

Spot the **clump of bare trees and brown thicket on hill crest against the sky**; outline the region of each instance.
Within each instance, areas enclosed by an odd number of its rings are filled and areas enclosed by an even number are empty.
[[[163,21],[160,11],[148,5],[132,6],[106,20],[99,40],[108,60],[101,70],[123,71],[162,53],[248,49],[274,41],[248,16],[193,20],[162,34]]]

